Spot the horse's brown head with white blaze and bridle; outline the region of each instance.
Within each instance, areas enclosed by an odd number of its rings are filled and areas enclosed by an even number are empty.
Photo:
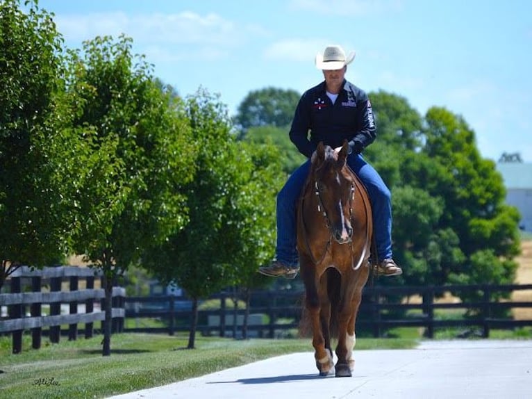
[[[319,142],[311,166],[318,210],[323,213],[331,236],[340,244],[350,243],[353,237],[355,184],[347,170],[348,150],[347,140],[338,153]]]

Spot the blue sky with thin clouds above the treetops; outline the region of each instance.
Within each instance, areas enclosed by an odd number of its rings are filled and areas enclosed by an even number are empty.
[[[231,114],[251,90],[302,93],[322,80],[327,44],[356,51],[347,79],[444,106],[476,133],[481,155],[532,162],[532,1],[40,0],[70,48],[120,33],[181,95],[201,86]],[[377,121],[378,122],[378,121]],[[378,139],[378,138],[377,138]]]

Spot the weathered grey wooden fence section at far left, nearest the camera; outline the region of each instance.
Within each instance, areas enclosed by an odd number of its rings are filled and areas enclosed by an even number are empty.
[[[59,342],[61,325],[68,325],[68,339],[75,340],[78,334],[78,323],[85,323],[85,338],[93,334],[94,322],[105,318],[103,288],[94,289],[94,279],[99,274],[90,268],[60,266],[31,270],[22,266],[10,277],[10,293],[0,294],[0,311],[8,308],[8,317],[0,317],[0,334],[11,332],[13,337],[13,353],[22,350],[22,333],[31,329],[32,347],[40,348],[42,327],[49,327],[44,333],[49,334],[53,343]],[[31,284],[26,283],[29,279]],[[83,280],[84,284],[80,284]],[[30,292],[22,292],[23,286],[30,286]],[[68,285],[69,291],[65,291]],[[80,287],[83,285],[83,288]],[[47,286],[45,292],[42,287]],[[49,289],[48,289],[49,288]],[[124,320],[124,288],[113,287],[113,330],[121,331]],[[49,304],[49,314],[43,315],[44,304]],[[68,314],[61,308],[68,307]],[[96,306],[95,306],[96,305]],[[29,314],[26,308],[29,307]],[[78,313],[78,307],[84,311]],[[1,315],[0,315],[1,316]],[[103,325],[103,321],[102,321]],[[103,326],[102,326],[103,329]]]

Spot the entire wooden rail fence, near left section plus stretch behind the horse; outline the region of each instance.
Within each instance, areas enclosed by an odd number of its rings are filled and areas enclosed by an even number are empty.
[[[22,269],[22,270],[21,270]],[[49,327],[50,341],[58,342],[61,325],[68,325],[69,340],[76,339],[78,323],[85,323],[85,337],[92,336],[93,323],[104,319],[103,289],[94,288],[94,271],[87,268],[61,267],[42,270],[17,270],[10,281],[11,293],[0,294],[0,305],[8,307],[9,317],[0,318],[0,334],[12,332],[13,352],[22,348],[22,332],[31,329],[33,348],[40,347],[42,327]],[[31,279],[33,292],[21,292],[21,279]],[[85,289],[78,289],[78,279],[85,279]],[[65,280],[65,281],[63,281]],[[49,282],[50,292],[40,292],[44,281]],[[69,291],[61,291],[62,284],[69,284]],[[513,293],[526,293],[527,300],[494,300]],[[474,298],[453,303],[438,301],[443,295],[454,298]],[[521,295],[523,298],[526,295]],[[201,334],[227,336],[244,329],[242,319],[245,309],[234,309],[226,303],[234,293],[219,293],[211,299],[219,299],[216,310],[200,310],[197,326]],[[406,298],[419,298],[415,302]],[[49,316],[42,316],[43,304],[49,304]],[[61,314],[60,307],[68,306],[68,314]],[[85,304],[85,312],[78,313],[78,304]],[[125,296],[124,288],[113,287],[113,331],[167,333],[188,332],[192,323],[190,299],[183,296]],[[95,309],[100,306],[99,309]],[[30,314],[26,316],[26,307]],[[425,336],[433,338],[435,329],[442,327],[475,327],[481,336],[488,337],[490,329],[513,329],[532,326],[531,319],[515,320],[504,311],[532,308],[532,284],[526,285],[471,285],[471,286],[367,286],[357,319],[358,329],[365,329],[372,336],[383,336],[392,327],[422,327]],[[301,327],[304,309],[304,293],[293,291],[256,291],[251,295],[249,314],[245,326],[256,336],[279,337]],[[464,318],[458,312],[455,318],[441,318],[440,311],[474,309],[474,316]],[[452,316],[452,315],[451,315]],[[124,320],[158,318],[163,327],[128,326]],[[103,321],[102,327],[103,329]],[[63,330],[65,332],[65,330]],[[44,332],[46,333],[46,332]]]

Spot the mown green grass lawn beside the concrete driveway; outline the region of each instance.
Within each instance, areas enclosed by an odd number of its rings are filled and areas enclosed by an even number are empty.
[[[112,355],[101,356],[101,336],[10,353],[10,337],[0,338],[0,398],[103,398],[197,377],[290,352],[312,352],[310,339],[236,341],[197,336],[115,334]],[[358,339],[357,350],[414,348],[415,339]],[[313,361],[309,359],[309,361]]]

